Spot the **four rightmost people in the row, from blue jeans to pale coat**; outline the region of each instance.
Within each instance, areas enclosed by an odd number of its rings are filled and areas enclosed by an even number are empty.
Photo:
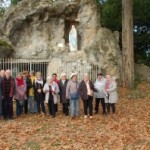
[[[72,118],[79,115],[79,98],[83,101],[84,118],[88,116],[93,118],[93,99],[95,98],[95,114],[99,112],[99,103],[101,102],[104,115],[115,114],[115,103],[118,100],[117,83],[111,77],[106,78],[99,73],[95,83],[89,78],[88,74],[84,74],[83,80],[77,81],[77,74],[71,75],[71,80],[66,87],[66,99],[70,100],[70,115]]]

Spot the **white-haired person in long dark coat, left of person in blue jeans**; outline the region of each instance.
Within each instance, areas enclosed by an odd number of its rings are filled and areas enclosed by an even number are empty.
[[[69,114],[69,109],[68,109],[69,100],[66,99],[66,87],[67,87],[67,83],[68,83],[68,80],[66,78],[66,74],[62,73],[61,74],[61,80],[59,80],[59,82],[58,82],[58,86],[59,86],[59,90],[60,90],[60,92],[59,92],[60,102],[63,105],[63,113],[66,116],[68,116],[68,114]]]

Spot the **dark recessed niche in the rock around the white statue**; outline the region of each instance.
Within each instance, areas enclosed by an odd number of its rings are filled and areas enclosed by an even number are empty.
[[[77,48],[78,50],[81,50],[81,36],[79,35],[79,32],[78,32],[78,24],[79,24],[78,21],[66,19],[64,38],[65,38],[66,46],[69,47],[69,33],[70,33],[72,25],[74,25],[77,30]]]

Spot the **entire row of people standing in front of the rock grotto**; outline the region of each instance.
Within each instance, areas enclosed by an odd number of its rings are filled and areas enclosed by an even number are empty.
[[[62,103],[65,116],[71,118],[79,116],[79,100],[83,101],[84,118],[93,118],[93,99],[95,98],[95,113],[99,112],[101,102],[103,114],[115,114],[115,103],[118,100],[116,81],[110,76],[97,75],[93,83],[88,74],[81,82],[76,73],[72,73],[70,80],[65,73],[61,79],[57,74],[45,80],[41,72],[23,71],[16,78],[11,76],[10,70],[0,71],[0,118],[13,119],[13,100],[16,101],[16,116],[23,113],[38,113],[55,117],[58,112],[58,100]],[[47,108],[47,109],[46,109]],[[48,112],[47,112],[48,110]]]

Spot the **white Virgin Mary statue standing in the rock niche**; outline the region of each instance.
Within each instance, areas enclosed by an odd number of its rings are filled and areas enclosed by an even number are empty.
[[[77,30],[74,25],[72,25],[69,33],[69,48],[70,51],[77,51]]]

